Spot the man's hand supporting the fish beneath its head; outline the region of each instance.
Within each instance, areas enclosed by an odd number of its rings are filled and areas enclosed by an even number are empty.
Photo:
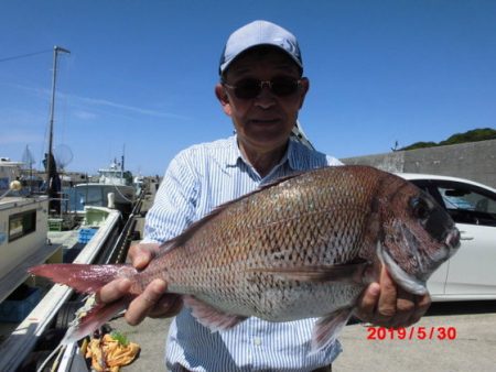
[[[420,320],[431,305],[429,294],[412,295],[398,287],[382,266],[379,283],[371,283],[355,315],[381,327],[408,327]]]

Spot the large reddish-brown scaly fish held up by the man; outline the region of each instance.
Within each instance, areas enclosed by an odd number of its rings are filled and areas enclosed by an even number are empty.
[[[213,330],[250,316],[320,317],[312,336],[319,350],[335,340],[382,264],[399,286],[422,295],[425,281],[459,244],[450,216],[411,183],[373,167],[336,166],[280,179],[218,207],[164,243],[141,272],[80,264],[30,272],[83,293],[116,277],[131,280],[132,295],[97,305],[73,339],[126,308],[160,277]]]

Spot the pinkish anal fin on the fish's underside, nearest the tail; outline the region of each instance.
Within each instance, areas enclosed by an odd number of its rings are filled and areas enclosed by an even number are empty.
[[[196,320],[198,320],[201,325],[209,328],[213,332],[233,328],[247,319],[245,316],[227,314],[218,310],[193,296],[186,295],[183,297],[183,300],[184,304],[191,308],[192,315],[196,318]]]

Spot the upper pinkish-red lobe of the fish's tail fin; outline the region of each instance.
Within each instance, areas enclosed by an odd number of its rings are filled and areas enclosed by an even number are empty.
[[[129,277],[136,273],[128,265],[89,265],[75,263],[43,264],[30,267],[30,274],[65,284],[80,293],[91,294],[116,277]]]

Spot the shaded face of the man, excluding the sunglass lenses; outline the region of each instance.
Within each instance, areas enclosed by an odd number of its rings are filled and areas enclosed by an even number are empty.
[[[278,96],[267,85],[249,99],[239,98],[233,87],[245,79],[262,81],[274,78],[298,80],[300,72],[292,59],[276,48],[248,51],[229,66],[216,95],[224,111],[234,122],[239,145],[263,154],[284,146],[303,105],[309,81],[303,78],[298,89],[288,96]]]

